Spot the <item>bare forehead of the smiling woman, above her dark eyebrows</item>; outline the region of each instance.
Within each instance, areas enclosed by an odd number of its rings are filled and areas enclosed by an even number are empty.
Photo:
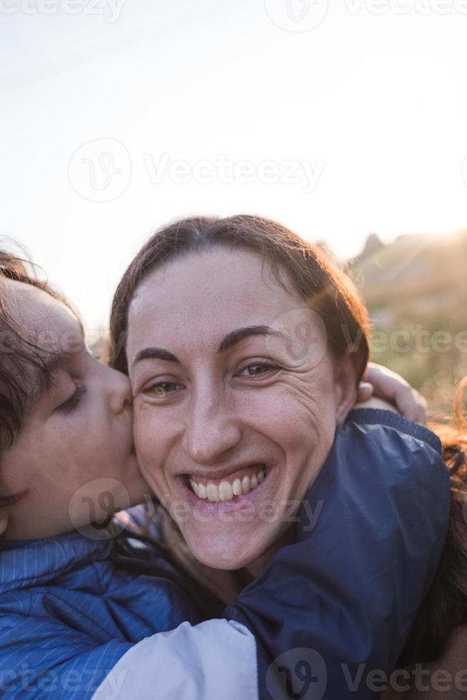
[[[217,352],[232,331],[293,329],[306,313],[305,302],[278,284],[258,254],[222,250],[177,259],[149,276],[131,303],[129,362],[148,346],[188,343]]]

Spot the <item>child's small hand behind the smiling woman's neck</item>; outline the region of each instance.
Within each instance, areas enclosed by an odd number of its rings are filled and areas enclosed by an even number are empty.
[[[426,399],[399,374],[373,362],[363,374],[355,408],[396,409],[409,421],[426,423]]]

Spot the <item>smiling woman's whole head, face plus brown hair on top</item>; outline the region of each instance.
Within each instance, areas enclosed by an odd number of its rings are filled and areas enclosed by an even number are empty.
[[[114,338],[126,330],[115,366],[129,369],[146,480],[168,509],[186,504],[178,522],[199,561],[258,573],[293,537],[356,401],[368,359],[356,291],[277,224],[192,219],[124,277]]]

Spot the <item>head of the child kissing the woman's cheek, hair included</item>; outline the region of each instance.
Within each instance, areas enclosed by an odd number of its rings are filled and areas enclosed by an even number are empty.
[[[54,536],[142,501],[131,392],[76,314],[0,253],[0,519],[5,539]]]

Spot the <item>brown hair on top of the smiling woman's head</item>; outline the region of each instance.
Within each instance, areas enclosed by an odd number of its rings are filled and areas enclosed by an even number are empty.
[[[294,291],[321,315],[335,356],[347,351],[356,360],[357,381],[368,361],[366,308],[351,280],[317,246],[275,221],[259,216],[200,216],[165,226],[142,247],[117,287],[111,311],[111,356],[115,369],[128,372],[125,352],[128,309],[139,284],[163,264],[211,249],[249,250],[260,254],[281,286],[288,273]]]

